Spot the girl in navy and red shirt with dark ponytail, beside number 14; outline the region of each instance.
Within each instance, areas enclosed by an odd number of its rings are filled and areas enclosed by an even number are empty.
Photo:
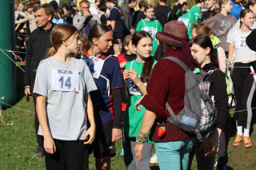
[[[112,47],[112,39],[110,27],[97,24],[80,46],[82,60],[89,65],[98,87],[91,94],[97,125],[93,144],[96,169],[110,169],[110,157],[115,155],[114,142],[122,138],[122,75],[118,58],[106,56]]]

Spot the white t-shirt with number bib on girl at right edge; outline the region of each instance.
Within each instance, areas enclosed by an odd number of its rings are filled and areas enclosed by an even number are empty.
[[[234,45],[233,62],[255,61],[256,53],[246,44],[246,37],[251,31],[242,33],[237,26],[230,29],[226,42]]]

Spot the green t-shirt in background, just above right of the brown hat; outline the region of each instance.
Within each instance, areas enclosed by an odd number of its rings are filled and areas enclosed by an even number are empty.
[[[192,6],[189,12],[186,14],[182,14],[181,17],[178,18],[178,21],[183,22],[187,27],[187,34],[189,38],[192,38],[192,25],[201,19],[201,9],[198,6]]]

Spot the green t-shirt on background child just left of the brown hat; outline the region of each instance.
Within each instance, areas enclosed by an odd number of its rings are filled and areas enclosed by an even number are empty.
[[[136,31],[145,30],[151,35],[151,38],[153,38],[153,49],[151,55],[154,56],[155,51],[158,49],[158,40],[155,38],[155,35],[157,32],[162,31],[161,23],[158,22],[157,19],[154,19],[153,21],[146,21],[146,19],[142,19],[140,22],[138,22],[138,25],[136,27]]]

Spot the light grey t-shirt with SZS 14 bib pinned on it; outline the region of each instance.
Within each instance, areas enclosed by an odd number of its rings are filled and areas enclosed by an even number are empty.
[[[82,140],[86,134],[86,104],[83,97],[97,86],[86,63],[76,58],[70,62],[54,57],[38,65],[34,93],[46,97],[50,134],[58,140]],[[38,135],[42,135],[39,126]]]

